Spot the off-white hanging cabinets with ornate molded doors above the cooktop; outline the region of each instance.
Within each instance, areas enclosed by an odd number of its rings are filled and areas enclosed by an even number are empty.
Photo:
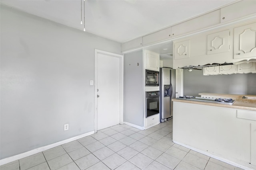
[[[256,20],[177,39],[173,43],[173,68],[256,61]]]

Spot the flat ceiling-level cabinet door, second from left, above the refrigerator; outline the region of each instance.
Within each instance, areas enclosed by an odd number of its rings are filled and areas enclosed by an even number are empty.
[[[155,33],[142,37],[143,45],[149,45],[152,43],[157,43],[166,39],[170,39],[171,35],[172,35],[172,27],[162,29],[160,31],[157,31]]]

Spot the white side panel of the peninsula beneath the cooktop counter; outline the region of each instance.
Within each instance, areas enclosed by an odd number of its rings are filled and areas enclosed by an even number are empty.
[[[232,164],[251,167],[251,123],[233,108],[174,102],[173,141]],[[256,114],[256,112],[255,112]]]

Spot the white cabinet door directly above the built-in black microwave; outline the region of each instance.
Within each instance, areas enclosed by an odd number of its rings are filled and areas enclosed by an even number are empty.
[[[145,53],[146,69],[159,71],[160,55],[155,53]]]

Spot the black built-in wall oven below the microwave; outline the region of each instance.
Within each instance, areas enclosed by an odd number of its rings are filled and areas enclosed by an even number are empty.
[[[159,91],[146,92],[146,117],[159,113]]]

